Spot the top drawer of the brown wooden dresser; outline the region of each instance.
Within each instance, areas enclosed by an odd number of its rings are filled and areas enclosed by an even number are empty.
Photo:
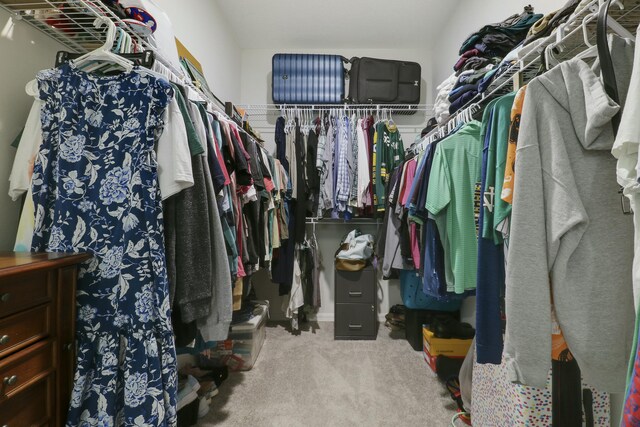
[[[51,301],[52,297],[47,271],[0,279],[0,318]]]

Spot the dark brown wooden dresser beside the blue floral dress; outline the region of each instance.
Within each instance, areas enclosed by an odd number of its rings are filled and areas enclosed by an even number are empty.
[[[0,252],[0,427],[66,422],[77,265],[88,258]]]

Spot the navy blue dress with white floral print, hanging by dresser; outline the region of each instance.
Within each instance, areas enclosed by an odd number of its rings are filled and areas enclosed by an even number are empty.
[[[170,85],[138,69],[37,77],[43,144],[32,249],[89,252],[68,426],[173,426],[176,355],[154,153]]]

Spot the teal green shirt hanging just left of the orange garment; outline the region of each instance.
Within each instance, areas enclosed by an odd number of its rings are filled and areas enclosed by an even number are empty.
[[[510,93],[493,104],[491,115],[491,133],[487,152],[487,170],[484,189],[484,217],[482,237],[492,239],[496,245],[504,241],[502,232],[498,231],[507,218],[511,205],[502,200],[502,184],[507,164],[507,145],[509,144],[509,127],[511,126],[511,107],[515,93]]]

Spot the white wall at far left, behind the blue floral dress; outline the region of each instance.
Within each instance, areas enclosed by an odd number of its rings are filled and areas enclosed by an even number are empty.
[[[13,249],[20,203],[7,195],[15,149],[11,142],[24,126],[33,102],[25,85],[55,63],[58,43],[0,10],[0,251]]]

